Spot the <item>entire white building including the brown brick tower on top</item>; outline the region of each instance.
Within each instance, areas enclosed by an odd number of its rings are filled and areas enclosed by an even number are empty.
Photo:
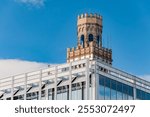
[[[102,17],[78,17],[78,44],[67,63],[0,79],[1,100],[150,100],[150,82],[112,67],[102,47]]]

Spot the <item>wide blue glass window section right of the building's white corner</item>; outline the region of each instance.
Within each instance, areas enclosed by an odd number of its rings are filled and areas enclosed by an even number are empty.
[[[132,100],[133,87],[99,75],[100,100]]]

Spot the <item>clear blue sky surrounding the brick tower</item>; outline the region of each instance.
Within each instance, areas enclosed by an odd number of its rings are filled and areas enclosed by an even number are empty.
[[[2,0],[0,59],[65,63],[66,48],[77,43],[77,15],[98,13],[113,66],[149,75],[149,5],[149,0]]]

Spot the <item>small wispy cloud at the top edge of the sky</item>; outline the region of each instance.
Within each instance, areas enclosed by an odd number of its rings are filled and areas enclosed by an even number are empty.
[[[43,6],[46,0],[15,0],[15,1],[29,6],[39,7],[39,6]]]

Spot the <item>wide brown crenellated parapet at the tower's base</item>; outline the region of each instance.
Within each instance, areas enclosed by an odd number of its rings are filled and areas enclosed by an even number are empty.
[[[67,48],[67,62],[82,60],[85,58],[100,59],[103,62],[112,64],[112,50],[99,48],[91,43],[88,47]]]

